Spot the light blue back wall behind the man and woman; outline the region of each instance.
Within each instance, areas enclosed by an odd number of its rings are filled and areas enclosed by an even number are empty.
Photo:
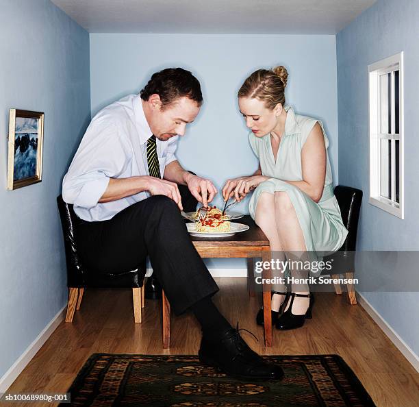
[[[335,36],[90,34],[92,115],[128,93],[138,93],[151,74],[182,66],[199,78],[204,104],[179,141],[186,169],[225,180],[250,175],[257,159],[238,112],[237,92],[255,69],[283,64],[290,73],[287,103],[325,123],[333,173],[338,173],[338,112]],[[213,155],[207,153],[211,151]],[[220,205],[220,195],[214,200]],[[236,206],[247,212],[248,201]],[[245,267],[242,260],[206,260],[208,267]]]

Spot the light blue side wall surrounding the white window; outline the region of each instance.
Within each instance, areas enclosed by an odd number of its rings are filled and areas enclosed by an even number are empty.
[[[419,2],[379,0],[337,36],[339,183],[364,190],[358,232],[361,250],[418,250],[419,247]],[[405,219],[368,204],[368,64],[404,51]],[[411,264],[417,271],[418,264]],[[407,278],[410,267],[359,264],[372,279]],[[390,291],[390,290],[389,290]],[[419,294],[364,293],[370,304],[419,354]]]

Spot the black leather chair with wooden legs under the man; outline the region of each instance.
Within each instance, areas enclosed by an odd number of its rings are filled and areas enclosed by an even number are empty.
[[[144,307],[144,275],[146,262],[138,264],[135,270],[121,270],[120,273],[97,273],[83,264],[77,252],[77,224],[80,219],[73,210],[73,205],[67,204],[62,195],[57,197],[60,212],[62,232],[64,234],[64,249],[66,252],[68,306],[66,322],[72,322],[75,310],[79,310],[84,289],[88,287],[102,288],[132,288],[134,302],[134,321],[142,321]]]

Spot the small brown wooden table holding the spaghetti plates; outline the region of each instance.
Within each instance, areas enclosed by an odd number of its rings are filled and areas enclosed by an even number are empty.
[[[247,258],[247,286],[249,295],[255,296],[253,277],[254,259],[270,262],[270,245],[264,232],[249,215],[237,219],[238,223],[250,226],[246,232],[227,238],[199,238],[191,236],[192,243],[202,258]],[[262,271],[262,278],[270,277],[270,271]],[[270,284],[263,285],[265,346],[272,346],[272,320],[270,315]],[[170,304],[163,293],[163,347],[170,346]]]

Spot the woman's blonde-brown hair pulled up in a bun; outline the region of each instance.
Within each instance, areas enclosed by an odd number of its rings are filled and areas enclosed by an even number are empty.
[[[238,97],[249,97],[265,102],[266,108],[272,110],[281,103],[285,104],[285,86],[287,86],[288,72],[284,66],[275,66],[271,70],[258,69],[242,84]]]

